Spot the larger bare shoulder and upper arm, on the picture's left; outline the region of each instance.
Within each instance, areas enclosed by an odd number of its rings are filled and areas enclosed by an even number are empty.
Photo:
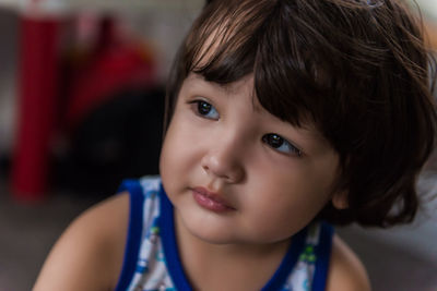
[[[128,193],[84,211],[55,244],[33,290],[114,290],[128,222]]]

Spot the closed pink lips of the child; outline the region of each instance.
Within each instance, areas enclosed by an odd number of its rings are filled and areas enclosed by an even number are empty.
[[[214,213],[235,210],[234,207],[222,195],[208,191],[204,187],[191,189],[194,201],[203,208]]]

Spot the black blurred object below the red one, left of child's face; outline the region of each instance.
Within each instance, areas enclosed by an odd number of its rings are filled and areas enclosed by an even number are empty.
[[[55,183],[83,194],[111,195],[122,179],[158,173],[164,89],[119,92],[93,110],[57,158]]]

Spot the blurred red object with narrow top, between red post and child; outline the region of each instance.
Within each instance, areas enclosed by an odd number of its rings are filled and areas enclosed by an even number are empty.
[[[69,86],[67,129],[74,130],[87,113],[114,93],[155,83],[152,54],[142,44],[120,38],[115,20],[102,19],[96,45]]]

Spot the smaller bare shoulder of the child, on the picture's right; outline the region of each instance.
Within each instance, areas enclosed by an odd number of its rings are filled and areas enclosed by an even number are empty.
[[[368,291],[370,282],[359,258],[338,235],[332,242],[328,291]]]

